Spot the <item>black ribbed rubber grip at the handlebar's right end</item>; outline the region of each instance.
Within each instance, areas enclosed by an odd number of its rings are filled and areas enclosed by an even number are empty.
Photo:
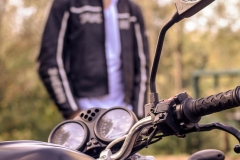
[[[229,90],[197,100],[187,98],[182,103],[182,112],[185,119],[197,123],[200,121],[201,116],[238,106],[240,106],[240,86],[236,87],[234,90]]]

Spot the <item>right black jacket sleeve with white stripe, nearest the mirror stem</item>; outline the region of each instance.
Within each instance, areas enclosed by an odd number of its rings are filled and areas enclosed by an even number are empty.
[[[139,118],[144,116],[144,105],[147,103],[149,77],[149,45],[141,9],[133,4],[136,22],[135,30],[135,75],[134,75],[134,112]]]

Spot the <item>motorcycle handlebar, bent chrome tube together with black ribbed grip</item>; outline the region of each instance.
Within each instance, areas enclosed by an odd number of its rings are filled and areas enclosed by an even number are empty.
[[[187,98],[181,103],[180,109],[177,109],[176,111],[181,112],[180,114],[177,113],[177,115],[181,115],[181,117],[178,118],[184,121],[187,120],[188,122],[197,123],[200,121],[201,116],[234,108],[239,105],[240,105],[240,86],[236,87],[234,90],[229,90],[226,92],[211,95],[205,98],[200,98],[197,100]],[[111,149],[115,144],[122,140],[124,140],[124,143],[121,149],[118,152],[112,154],[110,158],[111,159],[127,158],[130,155],[140,132],[145,127],[152,126],[153,121],[154,121],[153,117],[147,116],[139,120],[131,128],[127,135],[112,141],[107,146],[106,148],[107,150]]]

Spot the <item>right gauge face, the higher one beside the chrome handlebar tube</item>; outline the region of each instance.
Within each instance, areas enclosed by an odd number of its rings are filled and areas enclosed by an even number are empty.
[[[133,124],[133,118],[123,109],[107,111],[99,120],[96,132],[99,138],[112,140],[125,135]]]

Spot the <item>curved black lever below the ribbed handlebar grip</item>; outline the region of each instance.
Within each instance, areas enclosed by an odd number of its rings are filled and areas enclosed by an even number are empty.
[[[210,131],[213,129],[222,130],[222,131],[225,131],[225,132],[233,135],[240,143],[240,132],[236,128],[229,126],[229,125],[225,125],[223,123],[215,122],[215,123],[209,123],[209,124],[199,124],[198,131],[204,132],[204,131]],[[237,144],[234,147],[234,151],[235,151],[235,153],[240,153],[240,144]]]

